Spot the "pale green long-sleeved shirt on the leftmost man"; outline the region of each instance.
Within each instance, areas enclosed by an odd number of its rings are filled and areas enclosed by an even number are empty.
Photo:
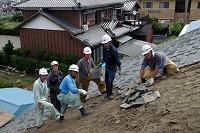
[[[34,103],[35,106],[38,105],[39,102],[47,101],[48,102],[48,88],[47,81],[41,81],[38,78],[33,84],[33,93],[34,93]]]

